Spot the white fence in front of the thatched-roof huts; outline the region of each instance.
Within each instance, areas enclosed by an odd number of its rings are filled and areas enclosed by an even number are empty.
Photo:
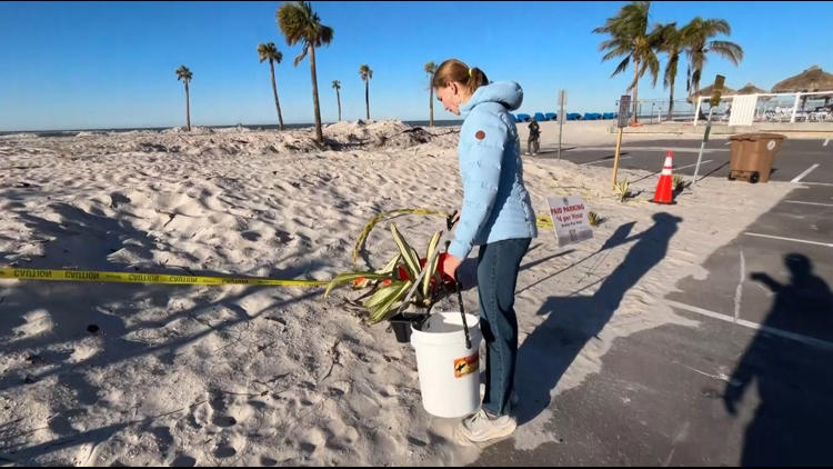
[[[752,103],[753,112],[751,116],[747,113],[749,97],[754,97]],[[751,126],[752,122],[833,122],[833,109],[827,104],[830,98],[833,97],[833,90],[831,91],[814,91],[814,92],[794,92],[794,93],[757,93],[757,94],[732,94],[721,97],[721,103],[727,102],[725,111],[720,112],[716,116],[716,120],[730,121],[730,124],[737,126]],[[744,111],[742,119],[731,119],[731,106],[734,103],[735,98],[739,99],[739,104],[743,104]],[[804,106],[802,104],[802,98]],[[697,103],[694,110],[693,124],[696,126],[700,120],[701,106],[703,101],[709,101],[707,96],[701,96],[697,98]],[[807,108],[807,103],[813,102]],[[715,108],[716,109],[716,108]],[[751,117],[751,120],[750,120]],[[715,117],[712,117],[715,120]]]

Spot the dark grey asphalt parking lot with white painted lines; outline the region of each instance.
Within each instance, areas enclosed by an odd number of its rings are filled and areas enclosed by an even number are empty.
[[[700,176],[726,178],[725,142],[709,142],[703,161],[711,161]],[[659,172],[669,148],[674,172],[691,176],[693,167],[678,168],[696,161],[699,141],[625,142],[622,156],[631,158],[621,166]],[[612,166],[605,160],[612,154],[562,151],[598,166]],[[519,373],[545,378],[538,381],[543,389],[518,389],[518,412],[523,423],[549,408],[552,441],[530,451],[500,441],[473,466],[833,463],[833,142],[786,140],[773,168],[772,180],[801,177],[795,189],[719,247],[703,265],[705,278],[682,279],[665,298],[700,327],[669,325],[620,338],[601,372],[550,401],[580,346],[592,340],[578,340],[563,357],[564,343],[575,338],[550,315],[519,352]]]

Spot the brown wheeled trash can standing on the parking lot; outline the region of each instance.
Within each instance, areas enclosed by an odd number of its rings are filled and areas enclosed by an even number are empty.
[[[772,161],[786,137],[781,133],[739,133],[730,137],[732,157],[729,180],[752,183],[770,180]]]

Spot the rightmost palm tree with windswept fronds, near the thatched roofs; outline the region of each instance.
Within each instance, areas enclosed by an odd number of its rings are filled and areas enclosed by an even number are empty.
[[[729,59],[735,66],[743,60],[743,49],[734,42],[729,41],[710,41],[717,34],[730,36],[732,28],[726,20],[709,19],[700,17],[691,20],[689,24],[681,30],[686,38],[685,52],[689,56],[689,70],[685,90],[689,96],[696,94],[700,91],[700,79],[703,73],[703,66],[709,52]]]

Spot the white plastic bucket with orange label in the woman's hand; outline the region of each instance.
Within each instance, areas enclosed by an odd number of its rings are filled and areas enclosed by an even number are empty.
[[[471,348],[460,311],[434,312],[421,330],[411,326],[422,407],[436,417],[464,417],[480,407],[480,318],[465,315]]]

